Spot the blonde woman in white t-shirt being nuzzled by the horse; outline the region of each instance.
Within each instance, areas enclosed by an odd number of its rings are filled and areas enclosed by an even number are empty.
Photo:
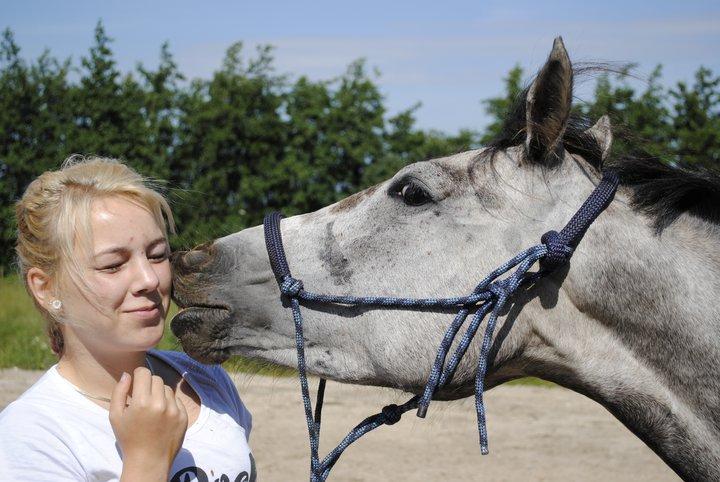
[[[71,158],[16,215],[58,363],[0,413],[2,478],[255,480],[251,417],[227,373],[153,349],[170,305],[166,200],[118,161]]]

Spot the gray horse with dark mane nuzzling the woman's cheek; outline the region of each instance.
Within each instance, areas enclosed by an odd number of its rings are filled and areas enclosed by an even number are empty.
[[[450,297],[561,228],[597,184],[612,136],[571,115],[573,70],[555,41],[504,134],[418,162],[282,223],[293,275],[316,293]],[[681,477],[720,479],[720,181],[639,158],[569,264],[516,293],[495,331],[486,388],[540,377],[605,406]],[[174,257],[172,329],[205,362],[294,366],[262,227]],[[308,370],[420,393],[452,314],[304,310]],[[480,340],[437,399],[473,393]]]

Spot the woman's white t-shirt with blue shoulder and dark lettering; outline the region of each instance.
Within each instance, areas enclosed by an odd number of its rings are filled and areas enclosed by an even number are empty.
[[[168,480],[251,482],[252,417],[219,365],[184,353],[151,350],[185,377],[201,400]],[[0,480],[119,480],[122,458],[108,411],[77,392],[51,367],[0,412]]]

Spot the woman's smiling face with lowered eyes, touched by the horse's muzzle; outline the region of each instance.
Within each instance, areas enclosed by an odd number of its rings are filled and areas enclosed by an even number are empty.
[[[170,253],[152,214],[120,197],[92,205],[91,252],[81,253],[84,286],[68,283],[64,317],[90,351],[145,351],[162,338],[170,305]],[[89,257],[88,257],[89,255]]]

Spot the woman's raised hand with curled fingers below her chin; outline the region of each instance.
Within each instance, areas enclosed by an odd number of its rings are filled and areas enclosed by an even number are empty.
[[[110,425],[123,456],[120,480],[166,481],[187,422],[185,406],[162,378],[145,367],[136,368],[132,379],[124,373],[110,400]]]

